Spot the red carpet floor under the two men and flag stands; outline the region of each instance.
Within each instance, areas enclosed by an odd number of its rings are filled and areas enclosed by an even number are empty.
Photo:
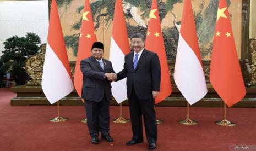
[[[56,106],[10,106],[15,97],[9,88],[0,88],[0,150],[147,150],[148,143],[126,146],[132,138],[130,123],[111,122],[113,143],[100,141],[92,145],[82,106],[61,106],[62,123],[48,121],[57,115]],[[119,117],[119,107],[110,108],[111,119]],[[228,108],[227,119],[237,126],[222,127],[213,122],[223,118],[222,108],[190,108],[190,117],[198,125],[177,123],[186,118],[185,107],[156,107],[159,139],[156,150],[229,150],[230,145],[256,145],[256,109]],[[129,118],[128,107],[123,117]],[[145,133],[144,133],[145,135]]]

